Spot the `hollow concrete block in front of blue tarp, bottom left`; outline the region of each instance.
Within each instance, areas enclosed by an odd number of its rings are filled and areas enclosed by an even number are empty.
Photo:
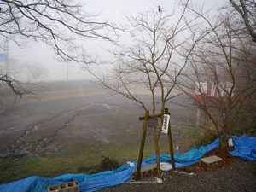
[[[49,186],[48,192],[79,192],[79,184],[77,181],[61,183]]]

